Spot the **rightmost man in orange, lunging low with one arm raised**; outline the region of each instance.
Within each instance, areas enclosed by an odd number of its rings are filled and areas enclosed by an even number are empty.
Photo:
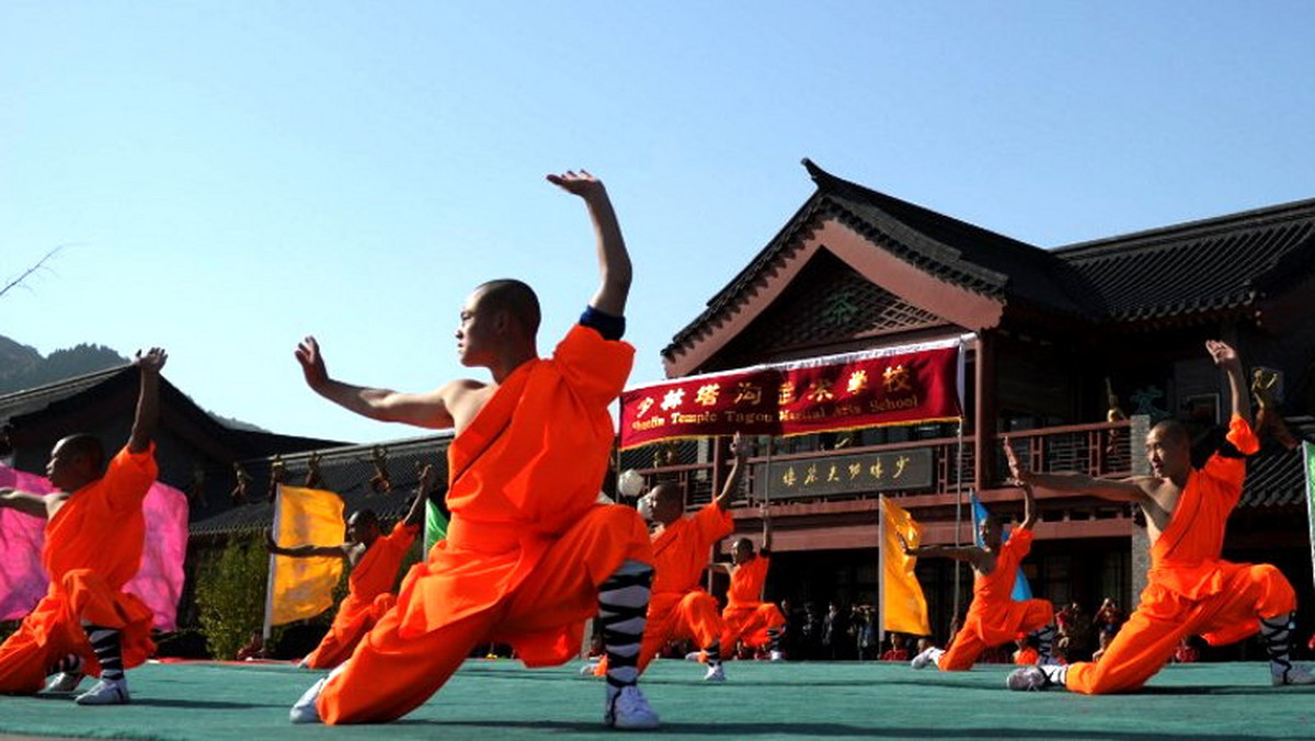
[[[1145,513],[1151,540],[1151,570],[1141,603],[1101,658],[1015,670],[1009,675],[1011,690],[1059,684],[1086,695],[1135,691],[1160,671],[1186,636],[1201,634],[1211,645],[1223,645],[1257,630],[1269,653],[1274,686],[1315,683],[1315,675],[1290,659],[1297,596],[1287,579],[1268,563],[1220,558],[1224,526],[1247,478],[1245,457],[1256,453],[1260,442],[1251,429],[1237,353],[1215,340],[1206,342],[1206,350],[1228,378],[1232,417],[1227,442],[1203,469],[1193,469],[1191,441],[1177,421],[1160,422],[1147,434],[1149,476],[1112,482],[1038,474],[1010,454],[1010,471],[1020,482],[1135,503]]]

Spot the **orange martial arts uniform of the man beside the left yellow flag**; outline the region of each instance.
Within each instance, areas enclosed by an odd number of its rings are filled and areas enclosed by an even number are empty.
[[[338,615],[329,633],[310,652],[305,663],[310,669],[333,669],[347,661],[356,644],[392,609],[397,598],[392,594],[397,582],[397,567],[406,558],[419,526],[397,523],[385,537],[376,538],[347,578],[347,596],[338,605]]]

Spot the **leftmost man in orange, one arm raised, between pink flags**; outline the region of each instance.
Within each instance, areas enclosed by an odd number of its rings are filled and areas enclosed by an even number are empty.
[[[0,507],[47,520],[41,562],[50,575],[46,596],[0,645],[0,692],[37,692],[54,674],[46,691],[68,694],[91,674],[100,682],[75,703],[124,704],[130,699],[124,670],[155,650],[151,609],[124,584],[142,563],[142,500],[156,475],[151,437],[166,358],[159,347],[137,353],[133,430],[108,466],[99,440],[74,434],[55,444],[46,465],[55,494],[0,491]]]

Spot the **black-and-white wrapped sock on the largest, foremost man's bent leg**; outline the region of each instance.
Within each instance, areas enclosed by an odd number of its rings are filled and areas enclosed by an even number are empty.
[[[598,587],[598,624],[608,654],[608,695],[639,679],[639,645],[648,616],[648,587],[654,569],[627,561]]]

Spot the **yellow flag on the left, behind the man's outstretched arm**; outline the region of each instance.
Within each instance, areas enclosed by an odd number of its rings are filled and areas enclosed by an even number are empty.
[[[280,486],[275,503],[274,538],[284,548],[341,545],[346,536],[342,499],[316,488]],[[270,558],[270,624],[314,617],[333,607],[333,590],[342,579],[342,558]]]

